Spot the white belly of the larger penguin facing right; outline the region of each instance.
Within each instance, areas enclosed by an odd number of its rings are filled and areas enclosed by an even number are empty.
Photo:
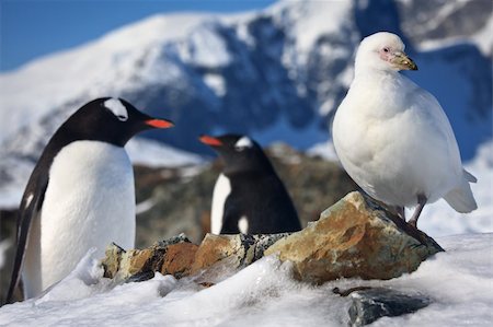
[[[134,247],[134,173],[123,148],[77,141],[55,156],[39,234],[41,250],[28,246],[26,253],[24,276],[41,272],[38,282],[25,290],[30,297],[66,277],[92,247],[96,257],[104,256],[111,242]],[[30,245],[36,243],[32,237]],[[36,261],[41,267],[30,265]]]

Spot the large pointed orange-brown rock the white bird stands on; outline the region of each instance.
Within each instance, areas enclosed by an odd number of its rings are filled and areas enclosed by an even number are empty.
[[[294,264],[295,277],[322,283],[337,278],[391,279],[412,272],[444,249],[360,192],[348,194],[305,230],[265,250]]]

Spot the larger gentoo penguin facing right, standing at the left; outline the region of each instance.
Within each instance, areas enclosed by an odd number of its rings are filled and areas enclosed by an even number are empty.
[[[156,119],[122,98],[94,100],[70,116],[49,140],[21,201],[18,247],[7,301],[22,268],[25,299],[66,277],[95,247],[135,242],[134,173],[125,143]]]

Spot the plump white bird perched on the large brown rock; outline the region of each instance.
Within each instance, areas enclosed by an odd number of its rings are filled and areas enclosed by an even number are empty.
[[[362,40],[355,77],[333,121],[337,156],[349,176],[372,198],[416,206],[416,227],[426,203],[444,198],[458,212],[477,209],[450,122],[438,101],[399,73],[417,70],[394,34]]]

